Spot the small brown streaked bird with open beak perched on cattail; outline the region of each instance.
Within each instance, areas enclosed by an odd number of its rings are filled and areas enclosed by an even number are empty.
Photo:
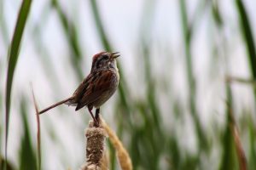
[[[119,56],[119,52],[95,54],[92,58],[90,74],[79,84],[73,95],[50,105],[38,114],[43,114],[62,104],[76,106],[75,111],[85,106],[94,122],[98,124],[100,107],[110,99],[119,86],[119,69],[116,61]],[[96,108],[95,116],[92,113],[93,108]]]

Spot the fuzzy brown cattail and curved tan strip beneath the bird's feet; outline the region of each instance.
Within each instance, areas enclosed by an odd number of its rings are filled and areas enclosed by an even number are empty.
[[[108,170],[108,158],[104,144],[107,135],[116,150],[121,169],[132,170],[131,158],[127,150],[101,117],[99,126],[95,126],[94,122],[90,121],[89,127],[85,130],[86,160],[81,170]]]

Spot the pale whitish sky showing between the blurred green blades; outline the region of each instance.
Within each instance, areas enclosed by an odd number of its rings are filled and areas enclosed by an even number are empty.
[[[7,37],[12,37],[17,12],[20,8],[20,0],[1,0],[0,10],[3,9],[0,14],[3,14],[3,18],[7,24]],[[140,73],[142,64],[140,63],[140,56],[138,51],[140,49],[140,42],[138,34],[142,26],[142,14],[143,6],[146,1],[118,1],[109,0],[97,1],[99,5],[99,11],[102,16],[103,24],[108,33],[108,37],[111,40],[115,51],[119,51],[122,56],[119,58],[122,66],[124,67],[125,77],[129,77],[129,87],[131,89],[131,95],[135,99],[143,99],[143,80]],[[152,1],[154,2],[154,1]],[[224,16],[224,37],[228,41],[227,51],[229,63],[230,75],[236,77],[250,77],[247,67],[247,52],[243,46],[242,38],[239,33],[239,23],[237,22],[235,3],[231,0],[218,1],[220,3],[220,11]],[[256,27],[256,15],[255,7],[256,1],[247,0],[246,8],[249,12],[252,28]],[[41,21],[40,14],[48,4],[49,1],[37,0],[32,2],[32,11],[29,15],[29,19],[24,32],[23,41],[20,48],[20,58],[15,70],[15,79],[12,92],[12,109],[11,120],[9,125],[9,159],[17,165],[18,152],[20,150],[20,136],[22,135],[22,129],[20,129],[20,113],[19,113],[19,101],[20,94],[30,95],[30,82],[34,88],[39,108],[43,109],[58,100],[67,98],[73,94],[73,90],[78,86],[79,82],[77,77],[73,75],[73,67],[69,64],[70,53],[67,49],[67,38],[63,36],[63,30],[61,28],[59,19],[54,10],[49,12],[49,17],[44,21],[44,31],[42,34],[44,45],[47,47],[50,54],[51,62],[55,66],[55,73],[58,76],[58,80],[61,84],[57,93],[51,87],[48,81],[48,75],[45,75],[44,67],[40,64],[41,60],[38,59],[38,52],[35,49],[32,28],[35,23]],[[189,17],[195,14],[195,4],[197,0],[188,1]],[[160,0],[154,4],[156,8],[154,10],[154,17],[152,20],[144,20],[146,24],[152,22],[151,37],[148,37],[148,41],[152,44],[154,51],[153,67],[155,77],[161,75],[163,77],[172,77],[173,91],[176,95],[180,96],[180,99],[186,99],[186,77],[184,70],[184,47],[183,47],[183,32],[181,30],[180,23],[180,11],[178,0]],[[86,56],[83,59],[83,73],[84,77],[90,71],[91,56],[93,54],[102,51],[102,46],[99,37],[96,33],[96,26],[93,17],[91,16],[90,4],[88,1],[61,1],[61,6],[65,9],[65,13],[68,14],[70,20],[73,20],[74,24],[79,28],[79,42],[82,46],[83,55]],[[211,58],[212,51],[209,48],[209,39],[221,42],[222,36],[216,34],[216,28],[211,27],[212,21],[209,20],[210,12],[204,13],[205,16],[199,22],[197,31],[193,39],[192,55],[195,63],[195,75],[197,75],[198,85],[198,108],[201,112],[201,122],[204,127],[211,131],[212,121],[217,120],[220,125],[224,123],[224,56],[219,56],[220,65],[216,68],[218,72],[217,77],[208,77],[209,72],[207,68],[210,67],[209,59]],[[2,24],[2,22],[0,23]],[[0,27],[2,29],[2,26]],[[214,33],[215,29],[215,33]],[[254,29],[252,29],[254,31]],[[210,37],[210,33],[212,37]],[[255,31],[254,37],[255,37]],[[0,89],[3,96],[5,89],[5,80],[7,74],[7,46],[3,41],[2,33],[0,34]],[[255,39],[255,38],[254,38]],[[165,51],[164,51],[165,50]],[[166,51],[168,54],[166,54]],[[134,83],[135,82],[135,83]],[[167,81],[168,82],[168,81]],[[138,88],[139,86],[139,88]],[[236,95],[236,103],[242,106],[247,106],[251,110],[255,111],[253,106],[252,89],[247,85],[234,85],[234,93]],[[31,97],[32,99],[32,97]],[[108,105],[104,105],[103,117],[107,122],[114,122],[113,114],[111,110],[113,108],[113,101],[115,96],[110,99]],[[161,99],[160,104],[162,109],[169,108],[168,100]],[[212,102],[215,103],[214,108]],[[1,105],[3,105],[2,103]],[[218,107],[216,107],[218,105]],[[236,105],[237,113],[241,111],[241,105]],[[61,111],[65,110],[65,114]],[[208,111],[216,110],[216,114]],[[29,108],[31,114],[30,126],[32,128],[33,143],[36,144],[36,121],[33,112],[33,106]],[[4,109],[2,107],[2,112]],[[4,122],[4,115],[1,115],[1,123]],[[239,115],[238,115],[239,116]],[[169,114],[165,114],[163,119],[166,126],[172,127],[173,120]],[[255,118],[255,114],[253,115]],[[84,141],[83,133],[84,128],[87,126],[88,119],[90,118],[88,112],[84,114],[84,111],[79,113],[74,112],[74,108],[63,105],[60,109],[50,111],[49,114],[41,116],[41,128],[42,128],[42,149],[43,149],[43,162],[46,167],[44,169],[78,169],[79,163],[82,164],[84,160]],[[188,116],[189,119],[189,116]],[[84,122],[84,126],[81,126]],[[79,125],[79,126],[78,126]],[[114,128],[114,123],[112,123]],[[188,136],[191,144],[188,146],[190,150],[194,150],[195,139],[193,134],[189,133],[191,122],[188,121],[181,130],[182,135]],[[49,130],[54,129],[57,141],[59,145],[49,138]],[[78,130],[79,129],[79,130]],[[180,130],[180,129],[179,129]],[[3,132],[3,130],[2,130]],[[192,135],[192,136],[191,136]],[[3,137],[3,134],[2,134]],[[1,138],[2,138],[1,137]],[[4,143],[1,139],[1,152],[3,154]],[[183,141],[182,141],[183,142]],[[183,142],[184,143],[184,142]],[[82,147],[83,146],[83,147]],[[50,153],[49,153],[50,152]],[[66,155],[66,156],[63,156]],[[65,160],[61,160],[65,159]],[[64,163],[64,164],[63,164]],[[18,166],[18,165],[17,165]]]

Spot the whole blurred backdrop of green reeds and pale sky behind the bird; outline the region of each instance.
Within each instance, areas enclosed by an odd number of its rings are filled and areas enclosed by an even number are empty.
[[[256,169],[256,1],[24,0],[31,7],[19,13],[21,3],[0,1],[0,158],[10,169],[39,169],[30,84],[40,109],[65,99],[101,51],[121,54],[119,90],[102,116],[134,169]],[[10,44],[26,12],[6,158]],[[67,105],[40,116],[42,169],[82,165],[89,120]],[[107,148],[109,169],[119,169]]]

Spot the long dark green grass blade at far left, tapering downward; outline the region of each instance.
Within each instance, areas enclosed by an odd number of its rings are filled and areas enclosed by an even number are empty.
[[[15,33],[12,38],[12,42],[9,46],[9,65],[7,72],[6,82],[6,95],[5,95],[5,158],[7,159],[7,143],[8,143],[8,129],[9,129],[9,111],[10,111],[10,99],[13,77],[15,73],[15,66],[19,57],[20,42],[23,35],[23,31],[26,25],[26,19],[30,11],[32,0],[24,0],[20,6],[20,12],[16,21]]]

